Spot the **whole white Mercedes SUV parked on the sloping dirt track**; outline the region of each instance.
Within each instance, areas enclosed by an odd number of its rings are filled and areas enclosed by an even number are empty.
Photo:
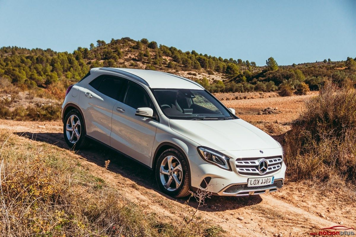
[[[68,88],[62,120],[71,148],[89,140],[109,146],[153,169],[159,188],[173,197],[198,189],[244,196],[283,186],[281,145],[180,76],[93,68]]]

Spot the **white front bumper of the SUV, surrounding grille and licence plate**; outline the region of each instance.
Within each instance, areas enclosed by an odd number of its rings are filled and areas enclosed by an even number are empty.
[[[248,157],[250,152],[251,151],[246,153],[244,152],[242,157]],[[265,154],[263,155],[268,157],[282,155],[282,153],[281,149],[269,149],[269,151],[265,151]],[[254,157],[254,154],[250,154],[250,156]],[[205,162],[199,155],[189,156],[192,189],[202,189],[213,193],[213,195],[220,196],[247,196],[271,193],[283,187],[284,176],[286,173],[286,165],[284,162],[282,162],[282,167],[276,172],[261,176],[253,176],[239,174],[237,172],[235,160],[236,159],[230,159],[232,171],[227,171],[218,166]],[[271,185],[247,187],[248,178],[263,178],[271,176],[274,176],[274,183]]]

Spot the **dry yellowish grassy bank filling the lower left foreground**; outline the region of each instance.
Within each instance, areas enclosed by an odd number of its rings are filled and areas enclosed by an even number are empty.
[[[0,232],[15,236],[219,236],[220,229],[159,221],[94,177],[68,152],[0,130]],[[184,228],[183,228],[184,227]],[[205,231],[206,230],[206,231]]]

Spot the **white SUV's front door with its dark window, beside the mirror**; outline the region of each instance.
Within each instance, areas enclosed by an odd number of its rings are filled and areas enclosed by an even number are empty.
[[[112,111],[111,146],[150,166],[158,121],[136,116],[135,112],[137,108],[149,107],[157,117],[156,109],[147,92],[131,81],[122,101]]]

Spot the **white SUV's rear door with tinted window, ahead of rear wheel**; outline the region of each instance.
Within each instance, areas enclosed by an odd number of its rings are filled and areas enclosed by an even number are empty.
[[[101,75],[82,90],[79,105],[88,136],[110,145],[112,109],[123,96],[127,82],[120,77]]]

